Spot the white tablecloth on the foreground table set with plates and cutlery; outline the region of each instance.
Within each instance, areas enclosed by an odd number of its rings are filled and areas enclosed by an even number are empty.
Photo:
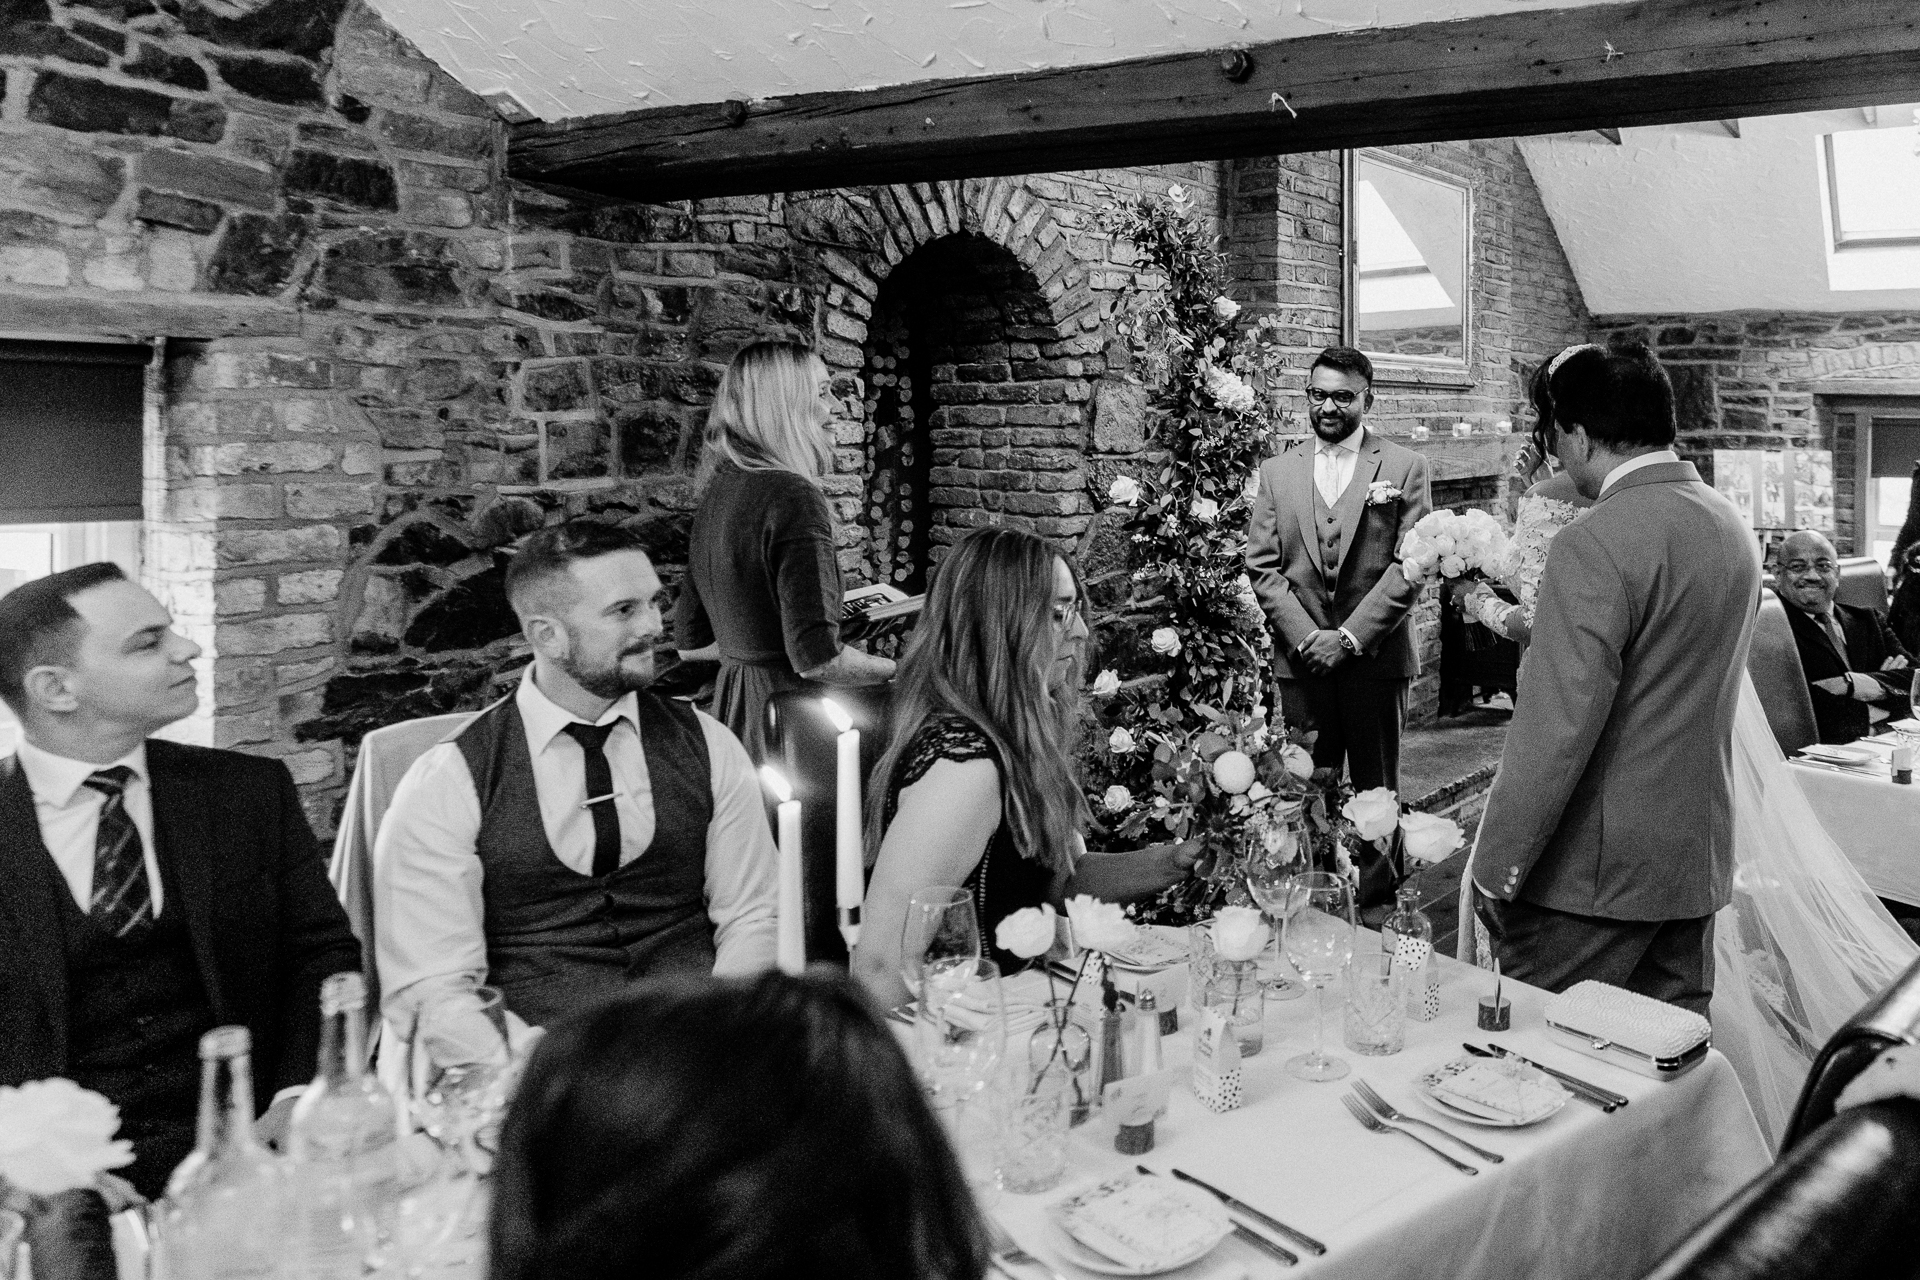
[[[1361,944],[1377,942],[1363,935]],[[989,1194],[987,1209],[1066,1276],[1092,1276],[1062,1259],[1044,1207],[1144,1163],[1160,1173],[1185,1169],[1327,1245],[1325,1257],[1302,1255],[1300,1267],[1284,1268],[1229,1240],[1175,1274],[1632,1280],[1768,1165],[1747,1098],[1718,1052],[1678,1080],[1649,1080],[1549,1040],[1542,1027],[1546,992],[1517,983],[1505,986],[1513,1031],[1480,1032],[1475,1006],[1490,984],[1490,975],[1444,960],[1438,1021],[1409,1023],[1407,1048],[1390,1057],[1359,1057],[1338,1046],[1331,1011],[1329,1046],[1354,1075],[1329,1084],[1296,1080],[1283,1067],[1311,1040],[1311,996],[1269,1002],[1265,1048],[1244,1063],[1246,1105],[1215,1115],[1177,1086],[1144,1157],[1117,1155],[1112,1123],[1089,1121],[1073,1130],[1060,1188]],[[1405,1138],[1367,1132],[1340,1105],[1357,1077],[1404,1113],[1440,1119],[1417,1102],[1411,1080],[1459,1057],[1463,1040],[1490,1038],[1632,1102],[1607,1115],[1574,1100],[1532,1128],[1453,1125],[1469,1142],[1507,1157],[1476,1176],[1455,1173]],[[1187,1063],[1188,1042],[1183,1017],[1181,1032],[1165,1040],[1169,1067]]]

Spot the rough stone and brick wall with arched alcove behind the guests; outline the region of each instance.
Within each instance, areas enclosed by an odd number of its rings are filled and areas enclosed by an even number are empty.
[[[929,557],[989,520],[1079,539],[1142,449],[1106,328],[1133,278],[1108,200],[1194,188],[1250,317],[1277,309],[1304,355],[1338,324],[1327,155],[580,205],[505,182],[499,123],[349,0],[6,13],[0,328],[167,338],[146,576],[207,649],[184,733],[286,758],[323,829],[365,727],[472,704],[518,658],[515,537],[616,518],[672,576],[693,509],[676,464],[753,338],[806,338],[852,388],[828,487],[864,574],[902,516],[874,514],[868,416],[900,390],[876,361],[912,280],[945,276],[947,319],[972,322],[922,324],[914,357]],[[1382,393],[1388,430],[1509,413],[1515,353],[1578,305],[1557,246],[1511,267],[1546,225],[1511,146],[1434,154],[1486,188],[1476,311],[1505,328],[1476,332],[1500,355],[1469,399]]]

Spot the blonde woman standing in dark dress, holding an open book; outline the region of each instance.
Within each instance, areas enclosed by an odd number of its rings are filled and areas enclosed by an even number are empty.
[[[841,645],[833,514],[820,491],[833,399],[818,355],[793,342],[743,347],[701,438],[687,576],[674,604],[682,654],[720,660],[712,716],[766,758],[766,702],[803,681],[876,685],[889,658]]]

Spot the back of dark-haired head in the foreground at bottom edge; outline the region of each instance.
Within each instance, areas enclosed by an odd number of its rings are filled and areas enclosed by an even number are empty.
[[[893,1032],[845,975],[659,979],[534,1050],[490,1280],[977,1280],[989,1242]]]

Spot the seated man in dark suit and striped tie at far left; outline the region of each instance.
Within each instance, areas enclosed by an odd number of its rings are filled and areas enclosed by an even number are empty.
[[[313,1077],[319,988],[359,967],[278,760],[152,739],[200,647],[111,564],[0,599],[0,1084],[67,1077],[121,1111],[146,1196],[194,1146],[198,1040],[253,1036],[263,1128]]]

